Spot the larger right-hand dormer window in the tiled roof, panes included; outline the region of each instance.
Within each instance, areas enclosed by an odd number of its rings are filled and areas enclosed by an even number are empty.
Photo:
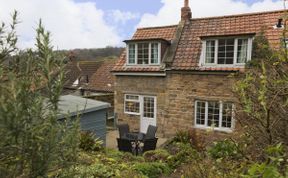
[[[252,38],[207,39],[202,43],[202,65],[242,65],[251,60]]]

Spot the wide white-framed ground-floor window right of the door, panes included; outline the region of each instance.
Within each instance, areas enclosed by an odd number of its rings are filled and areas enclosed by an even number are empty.
[[[233,108],[231,102],[198,100],[195,102],[195,126],[230,131],[234,121]]]

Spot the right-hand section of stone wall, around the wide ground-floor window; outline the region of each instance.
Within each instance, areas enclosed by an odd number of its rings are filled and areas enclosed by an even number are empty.
[[[235,101],[235,78],[227,74],[170,74],[167,76],[165,134],[194,126],[195,101]]]

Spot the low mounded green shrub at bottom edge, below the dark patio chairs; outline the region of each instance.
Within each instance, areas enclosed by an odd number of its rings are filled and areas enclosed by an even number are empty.
[[[162,174],[168,175],[171,173],[171,169],[166,163],[159,162],[136,163],[133,168],[149,178],[157,178]]]

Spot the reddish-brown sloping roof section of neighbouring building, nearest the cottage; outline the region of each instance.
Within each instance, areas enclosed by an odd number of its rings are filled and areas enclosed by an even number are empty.
[[[90,78],[88,86],[84,89],[98,92],[113,92],[114,91],[114,76],[111,70],[115,65],[116,59],[107,59]]]

